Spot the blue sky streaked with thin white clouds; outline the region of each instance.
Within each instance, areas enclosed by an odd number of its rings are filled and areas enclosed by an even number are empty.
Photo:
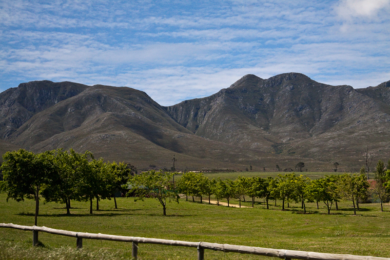
[[[390,80],[390,0],[1,0],[0,92],[128,86],[168,106],[246,74]]]

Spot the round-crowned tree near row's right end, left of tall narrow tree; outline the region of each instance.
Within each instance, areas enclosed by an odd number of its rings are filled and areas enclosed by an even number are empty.
[[[337,191],[344,200],[351,200],[353,215],[356,215],[355,202],[364,194],[367,194],[369,183],[364,175],[343,174],[337,183]]]

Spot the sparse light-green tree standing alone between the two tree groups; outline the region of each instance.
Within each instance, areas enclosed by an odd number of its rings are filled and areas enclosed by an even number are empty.
[[[173,173],[150,170],[133,176],[129,181],[130,191],[138,200],[145,197],[156,198],[162,205],[163,215],[166,216],[167,200],[175,200],[179,203],[177,192],[170,189],[170,180]]]

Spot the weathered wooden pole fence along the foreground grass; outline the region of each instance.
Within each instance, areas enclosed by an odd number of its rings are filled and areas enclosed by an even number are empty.
[[[60,229],[53,229],[48,227],[39,226],[21,226],[12,223],[0,223],[0,227],[16,228],[25,231],[33,231],[33,245],[38,244],[38,232],[47,232],[50,234],[67,236],[77,238],[77,248],[82,248],[83,239],[95,239],[95,240],[112,240],[122,242],[132,242],[132,257],[137,259],[138,244],[160,244],[160,245],[173,245],[173,246],[186,246],[197,248],[198,260],[204,260],[204,250],[215,250],[223,252],[234,252],[241,254],[252,254],[267,257],[281,258],[285,260],[301,259],[301,260],[390,260],[390,258],[371,257],[371,256],[354,256],[354,255],[341,255],[341,254],[325,254],[316,252],[305,252],[295,250],[284,249],[270,249],[253,246],[242,245],[230,245],[230,244],[217,244],[208,242],[187,242],[178,240],[165,240],[165,239],[149,239],[140,237],[125,237],[105,234],[93,234],[83,232],[73,232]]]

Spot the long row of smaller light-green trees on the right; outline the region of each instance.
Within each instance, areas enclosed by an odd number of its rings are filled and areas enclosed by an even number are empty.
[[[317,180],[311,180],[303,175],[296,176],[295,173],[281,175],[272,178],[260,177],[238,177],[235,180],[212,179],[204,176],[202,173],[188,172],[182,175],[176,182],[176,190],[187,196],[202,197],[209,199],[214,195],[219,204],[219,200],[238,199],[241,206],[241,200],[245,201],[245,196],[252,199],[263,199],[269,209],[269,201],[281,200],[282,209],[285,209],[285,202],[290,201],[301,203],[302,209],[306,213],[305,202],[322,201],[328,208],[328,214],[331,212],[333,204],[341,200],[350,200],[353,204],[354,214],[356,208],[359,209],[359,201],[366,201],[370,195],[382,203],[388,200],[390,196],[390,170],[385,171],[384,163],[379,160],[375,181],[370,183],[363,174],[342,174],[329,175]]]

